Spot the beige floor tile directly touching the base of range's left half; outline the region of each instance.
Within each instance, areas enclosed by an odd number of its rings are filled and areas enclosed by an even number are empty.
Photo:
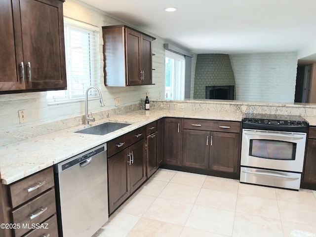
[[[276,199],[276,189],[250,184],[239,184],[238,194]]]

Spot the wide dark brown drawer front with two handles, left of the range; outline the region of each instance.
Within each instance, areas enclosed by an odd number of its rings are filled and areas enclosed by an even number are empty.
[[[183,119],[184,129],[220,131],[220,132],[240,132],[240,122]]]

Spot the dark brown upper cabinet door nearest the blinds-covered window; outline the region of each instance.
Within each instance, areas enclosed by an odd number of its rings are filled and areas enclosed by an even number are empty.
[[[27,89],[66,88],[62,1],[19,2]]]

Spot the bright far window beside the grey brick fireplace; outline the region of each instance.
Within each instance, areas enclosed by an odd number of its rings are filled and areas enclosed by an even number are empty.
[[[185,57],[165,51],[165,99],[183,100],[185,88]]]

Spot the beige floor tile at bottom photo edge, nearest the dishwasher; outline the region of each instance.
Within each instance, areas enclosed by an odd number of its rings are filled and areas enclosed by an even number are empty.
[[[98,237],[126,237],[140,217],[118,212],[98,231]]]

